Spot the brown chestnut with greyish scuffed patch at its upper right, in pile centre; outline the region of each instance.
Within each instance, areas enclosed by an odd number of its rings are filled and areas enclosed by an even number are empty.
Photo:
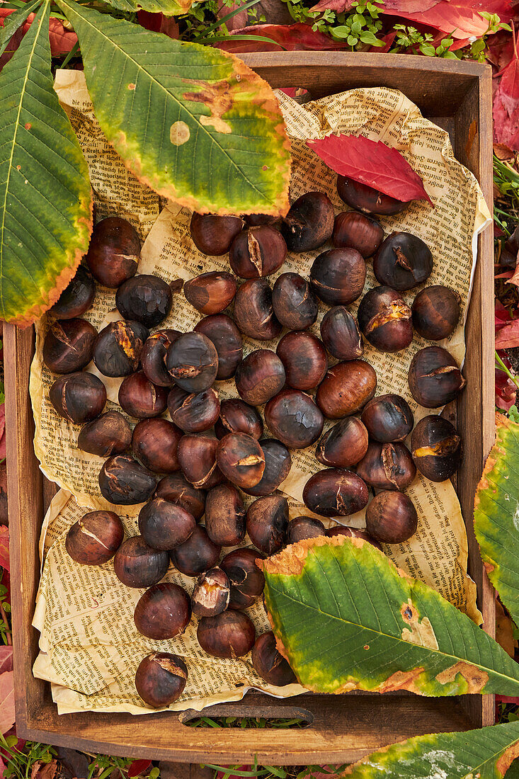
[[[263,406],[283,388],[285,373],[281,359],[270,349],[247,354],[235,375],[238,394],[252,406]]]

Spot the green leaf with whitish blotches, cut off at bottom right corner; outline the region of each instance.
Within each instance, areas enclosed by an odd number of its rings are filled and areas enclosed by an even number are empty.
[[[346,770],[349,779],[501,779],[519,754],[519,723],[408,738]],[[510,772],[511,773],[511,772]]]

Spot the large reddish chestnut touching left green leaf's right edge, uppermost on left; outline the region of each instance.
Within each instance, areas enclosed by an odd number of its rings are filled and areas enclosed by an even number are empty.
[[[86,257],[87,266],[96,281],[115,289],[135,276],[139,257],[139,235],[129,222],[121,217],[108,217],[97,222]]]

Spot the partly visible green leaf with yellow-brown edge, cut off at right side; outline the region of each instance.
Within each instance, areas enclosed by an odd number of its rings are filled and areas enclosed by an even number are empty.
[[[489,579],[519,625],[519,425],[502,414],[476,490],[474,530]]]

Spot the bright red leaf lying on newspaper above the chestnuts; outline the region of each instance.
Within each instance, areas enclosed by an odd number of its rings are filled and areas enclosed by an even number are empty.
[[[364,136],[326,136],[306,141],[332,171],[397,200],[428,200],[422,179],[397,149]]]

